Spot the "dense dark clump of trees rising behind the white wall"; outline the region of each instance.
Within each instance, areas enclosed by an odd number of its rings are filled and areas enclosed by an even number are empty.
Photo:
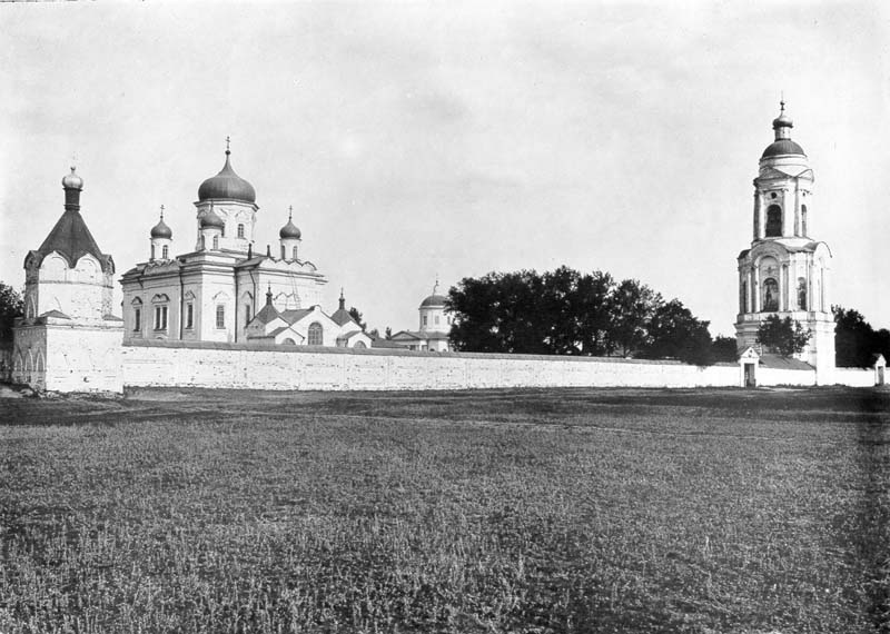
[[[712,339],[709,321],[636,279],[568,267],[466,277],[448,293],[457,350],[674,358],[698,365],[735,359],[735,339]]]

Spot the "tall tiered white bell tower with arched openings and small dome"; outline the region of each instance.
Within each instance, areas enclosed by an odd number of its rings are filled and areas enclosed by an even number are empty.
[[[762,321],[771,315],[791,317],[810,329],[799,358],[824,384],[834,368],[831,251],[812,238],[813,171],[803,148],[791,139],[793,122],[784,106],[772,122],[774,140],[763,150],[754,179],[753,239],[739,254],[735,339],[739,349],[754,346]]]

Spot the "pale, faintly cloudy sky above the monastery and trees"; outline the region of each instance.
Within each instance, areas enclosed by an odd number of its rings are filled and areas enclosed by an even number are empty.
[[[200,182],[294,206],[301,254],[369,327],[433,289],[567,265],[633,277],[732,335],[752,179],[784,91],[815,172],[832,303],[890,327],[890,10],[882,2],[0,6],[0,280],[62,212],[117,276]]]

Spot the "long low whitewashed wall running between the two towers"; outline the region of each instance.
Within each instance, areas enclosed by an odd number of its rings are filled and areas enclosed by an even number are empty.
[[[760,368],[759,385],[814,385],[812,370]],[[741,368],[597,357],[270,348],[255,344],[134,341],[123,385],[248,389],[468,389],[492,387],[728,387]]]

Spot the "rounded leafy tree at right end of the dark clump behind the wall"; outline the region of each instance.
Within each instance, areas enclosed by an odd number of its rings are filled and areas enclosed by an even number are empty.
[[[643,356],[654,359],[673,358],[706,366],[713,364],[711,333],[708,321],[693,317],[679,299],[655,308],[649,323],[649,344]]]

